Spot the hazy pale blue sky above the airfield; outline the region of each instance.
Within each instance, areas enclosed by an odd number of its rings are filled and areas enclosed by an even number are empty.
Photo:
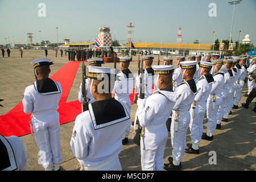
[[[232,0],[229,0],[232,1]],[[233,5],[226,0],[0,0],[0,44],[27,42],[27,33],[33,33],[33,43],[42,40],[59,42],[90,42],[97,37],[98,28],[110,27],[112,38],[127,40],[127,24],[135,25],[133,42],[176,43],[177,28],[182,28],[183,43],[213,43],[215,38],[229,39]],[[39,17],[39,3],[46,4],[46,16]],[[216,17],[210,17],[209,3],[216,3]],[[256,44],[256,0],[242,0],[236,5],[233,41],[250,34]],[[125,43],[123,41],[121,43]]]

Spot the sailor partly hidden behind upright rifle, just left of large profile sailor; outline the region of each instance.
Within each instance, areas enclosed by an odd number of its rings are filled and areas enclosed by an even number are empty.
[[[147,55],[142,57],[142,61],[144,61],[144,98],[147,98],[152,95],[152,85],[154,84],[154,70],[152,69],[152,63],[153,63],[154,56],[153,55]],[[136,77],[136,86],[138,89],[141,89],[140,84],[140,78],[142,76],[142,73],[139,74],[139,76]]]

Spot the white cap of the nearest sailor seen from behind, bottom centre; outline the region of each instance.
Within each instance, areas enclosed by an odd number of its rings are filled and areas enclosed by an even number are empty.
[[[115,68],[106,68],[106,67],[88,67],[89,73],[88,77],[94,80],[115,80],[118,69]]]

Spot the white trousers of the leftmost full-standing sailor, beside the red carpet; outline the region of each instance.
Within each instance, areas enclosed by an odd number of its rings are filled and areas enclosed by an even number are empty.
[[[41,163],[44,168],[53,163],[60,164],[60,122],[59,113],[33,117],[32,125],[36,143],[40,149]]]

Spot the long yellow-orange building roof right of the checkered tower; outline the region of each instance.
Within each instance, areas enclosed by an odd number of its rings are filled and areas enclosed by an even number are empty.
[[[180,43],[133,43],[135,48],[168,48],[168,49],[200,49],[210,50],[212,44],[184,44]],[[123,47],[130,47],[130,44],[123,45]]]

